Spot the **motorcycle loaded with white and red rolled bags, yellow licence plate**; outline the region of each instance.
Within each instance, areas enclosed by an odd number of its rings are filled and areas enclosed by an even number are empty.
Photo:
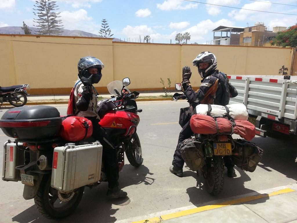
[[[176,90],[182,90],[176,84]],[[173,100],[187,99],[180,93]],[[255,126],[247,121],[248,113],[243,104],[191,105],[181,108],[179,124],[190,121],[193,135],[180,143],[181,156],[192,171],[201,172],[209,194],[218,195],[224,186],[224,156],[244,171],[254,172],[263,156],[263,150],[249,142],[255,136]],[[244,139],[233,139],[238,134]]]

